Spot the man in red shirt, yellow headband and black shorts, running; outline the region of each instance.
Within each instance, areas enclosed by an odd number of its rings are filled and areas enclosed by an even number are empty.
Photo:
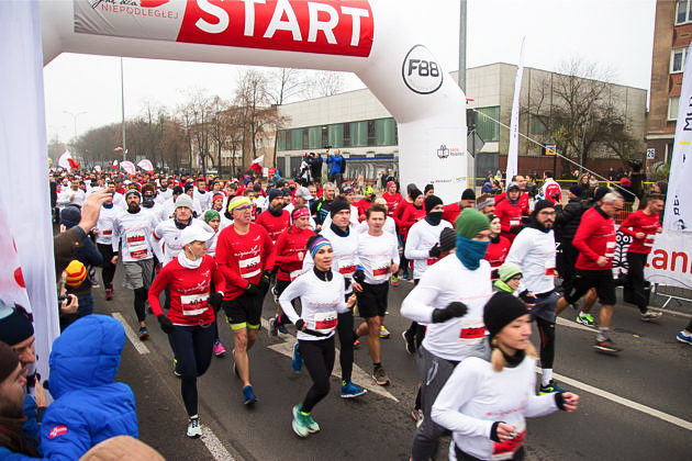
[[[216,239],[216,262],[226,278],[222,307],[233,331],[233,369],[243,382],[245,405],[257,402],[249,380],[248,351],[257,340],[276,258],[267,231],[250,223],[252,206],[248,198],[234,198],[228,203],[233,225],[221,231]]]

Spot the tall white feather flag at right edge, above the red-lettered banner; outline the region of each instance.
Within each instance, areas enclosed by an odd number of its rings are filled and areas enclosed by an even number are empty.
[[[663,228],[692,232],[692,44],[688,48],[670,162]],[[689,160],[689,161],[688,161]]]

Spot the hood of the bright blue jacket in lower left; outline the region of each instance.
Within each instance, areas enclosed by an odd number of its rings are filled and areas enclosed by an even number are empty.
[[[55,398],[85,387],[111,384],[125,345],[125,329],[108,315],[87,315],[53,341],[48,387]]]

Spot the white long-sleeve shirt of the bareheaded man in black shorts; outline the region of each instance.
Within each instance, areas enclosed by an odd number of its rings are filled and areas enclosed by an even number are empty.
[[[372,285],[388,283],[392,262],[399,265],[399,241],[388,233],[379,236],[360,234],[358,259],[366,276],[366,283]]]

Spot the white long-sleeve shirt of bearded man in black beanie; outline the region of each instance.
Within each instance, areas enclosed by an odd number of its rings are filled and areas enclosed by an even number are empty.
[[[522,282],[517,292],[528,290],[534,294],[555,289],[555,234],[533,227],[518,233],[505,262],[522,268]]]

